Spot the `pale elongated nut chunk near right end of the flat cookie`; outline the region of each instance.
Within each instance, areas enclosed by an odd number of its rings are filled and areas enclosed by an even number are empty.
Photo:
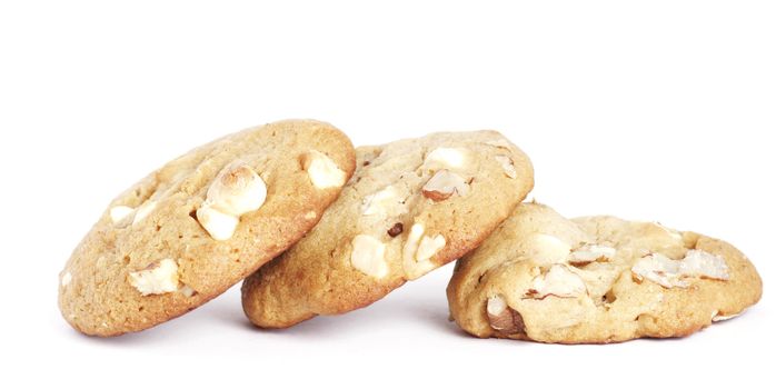
[[[725,260],[702,250],[689,250],[685,258],[673,260],[660,253],[650,253],[639,259],[630,269],[637,279],[648,279],[664,288],[687,288],[686,278],[699,277],[728,280]]]

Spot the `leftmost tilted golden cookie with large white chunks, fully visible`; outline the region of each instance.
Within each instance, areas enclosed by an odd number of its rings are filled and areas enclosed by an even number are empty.
[[[355,170],[332,126],[288,120],[201,146],[116,198],[60,273],[77,330],[140,331],[226,291],[301,238]]]

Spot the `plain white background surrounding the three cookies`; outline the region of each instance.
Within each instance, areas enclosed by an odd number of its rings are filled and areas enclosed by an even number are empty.
[[[773,383],[775,20],[773,1],[3,1],[1,386]],[[499,129],[539,201],[724,238],[765,297],[682,340],[480,340],[447,321],[448,266],[286,331],[251,328],[237,288],[142,333],[66,325],[57,275],[113,196],[283,118],[356,144]]]

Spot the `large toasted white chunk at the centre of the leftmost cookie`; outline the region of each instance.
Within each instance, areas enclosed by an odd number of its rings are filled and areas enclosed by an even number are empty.
[[[267,186],[248,164],[237,161],[223,168],[197,209],[197,220],[216,240],[235,235],[240,216],[255,211],[267,198]]]

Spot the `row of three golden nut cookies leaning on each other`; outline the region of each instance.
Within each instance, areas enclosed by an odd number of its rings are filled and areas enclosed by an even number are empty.
[[[523,202],[528,157],[496,131],[354,149],[287,120],[198,147],[117,197],[60,273],[77,330],[110,337],[242,283],[262,328],[366,307],[457,260],[451,318],[481,337],[617,342],[680,337],[756,303],[733,246]]]

